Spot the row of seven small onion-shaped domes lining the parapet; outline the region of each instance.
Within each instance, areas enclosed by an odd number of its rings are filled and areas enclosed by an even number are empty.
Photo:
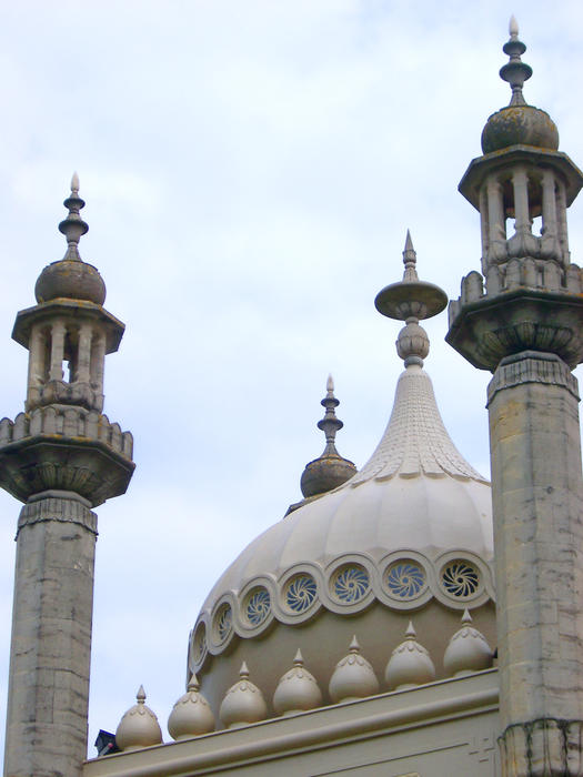
[[[482,672],[492,666],[492,649],[483,634],[471,626],[471,622],[472,618],[465,610],[462,627],[451,637],[445,649],[443,667],[448,677]],[[434,679],[433,660],[428,649],[416,640],[415,629],[410,623],[404,642],[394,648],[389,658],[383,685],[386,690],[405,690]],[[214,715],[199,688],[193,674],[187,693],[178,699],[168,719],[168,730],[173,739],[188,739],[215,729]],[[381,683],[370,662],[361,654],[355,636],[348,655],[335,665],[328,692],[332,704],[365,698],[381,692]],[[115,731],[115,744],[121,750],[149,747],[162,741],[158,718],[145,707],[144,700],[145,694],[140,687],[138,704],[128,709]],[[321,707],[323,703],[318,680],[304,666],[301,650],[298,649],[292,666],[282,675],[273,694],[273,712],[275,715],[295,715]],[[225,728],[270,717],[263,694],[251,680],[244,662],[239,679],[224,694],[219,717]]]

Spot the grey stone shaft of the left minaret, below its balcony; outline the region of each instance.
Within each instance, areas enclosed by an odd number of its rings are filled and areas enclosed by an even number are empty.
[[[4,775],[80,777],[87,715],[97,515],[69,492],[22,507]]]

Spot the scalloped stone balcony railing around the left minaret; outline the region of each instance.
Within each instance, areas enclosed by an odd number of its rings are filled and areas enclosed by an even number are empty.
[[[99,440],[109,447],[131,458],[133,437],[122,432],[118,423],[110,423],[107,415],[81,407],[37,407],[30,413],[19,413],[14,421],[0,421],[0,445],[17,442],[38,434],[63,434],[68,437]]]

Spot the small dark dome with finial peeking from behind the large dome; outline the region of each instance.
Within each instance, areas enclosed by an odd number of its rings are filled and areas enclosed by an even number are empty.
[[[354,464],[348,458],[343,458],[336,451],[336,432],[344,424],[335,414],[340,402],[334,396],[332,375],[328,376],[326,395],[320,404],[325,407],[325,414],[318,422],[318,428],[325,434],[325,447],[322,455],[306,464],[302,473],[300,485],[305,497],[332,491],[332,488],[345,483],[356,472]]]

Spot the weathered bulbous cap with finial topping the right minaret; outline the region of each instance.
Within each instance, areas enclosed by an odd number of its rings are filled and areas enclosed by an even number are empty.
[[[521,60],[526,51],[519,40],[519,26],[510,20],[510,40],[503,46],[510,61],[500,70],[500,77],[512,87],[512,99],[506,108],[493,113],[482,132],[482,151],[486,154],[511,145],[534,145],[541,149],[559,149],[559,131],[555,123],[540,108],[529,105],[522,94],[524,81],[531,78],[532,68]]]

